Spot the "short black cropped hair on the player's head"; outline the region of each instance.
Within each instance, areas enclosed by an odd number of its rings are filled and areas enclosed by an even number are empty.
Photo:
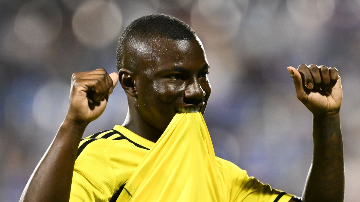
[[[172,40],[191,40],[196,37],[194,30],[185,22],[165,14],[145,15],[132,21],[121,33],[117,43],[116,67],[123,66],[126,42],[131,39],[168,38]]]

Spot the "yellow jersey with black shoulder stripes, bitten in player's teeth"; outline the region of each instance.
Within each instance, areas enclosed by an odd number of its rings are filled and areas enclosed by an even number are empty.
[[[156,143],[116,125],[82,139],[70,201],[287,202],[215,156],[201,113],[178,113]]]

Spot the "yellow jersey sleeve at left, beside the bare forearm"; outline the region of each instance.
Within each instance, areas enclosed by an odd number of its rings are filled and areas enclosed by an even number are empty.
[[[85,144],[86,147],[81,148]],[[103,139],[84,139],[80,142],[69,201],[109,201],[113,196],[116,179],[108,148],[109,143]]]

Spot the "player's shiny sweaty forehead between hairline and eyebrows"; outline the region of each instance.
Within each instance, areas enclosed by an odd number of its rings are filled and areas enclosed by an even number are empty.
[[[142,68],[164,69],[172,66],[203,66],[207,64],[203,45],[198,37],[191,40],[150,38],[131,44]],[[148,67],[148,68],[147,68]]]

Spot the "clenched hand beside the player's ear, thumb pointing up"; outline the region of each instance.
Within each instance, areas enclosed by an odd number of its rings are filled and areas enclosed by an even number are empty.
[[[74,73],[65,120],[86,127],[91,121],[99,118],[118,78],[117,73],[108,75],[105,69]]]

